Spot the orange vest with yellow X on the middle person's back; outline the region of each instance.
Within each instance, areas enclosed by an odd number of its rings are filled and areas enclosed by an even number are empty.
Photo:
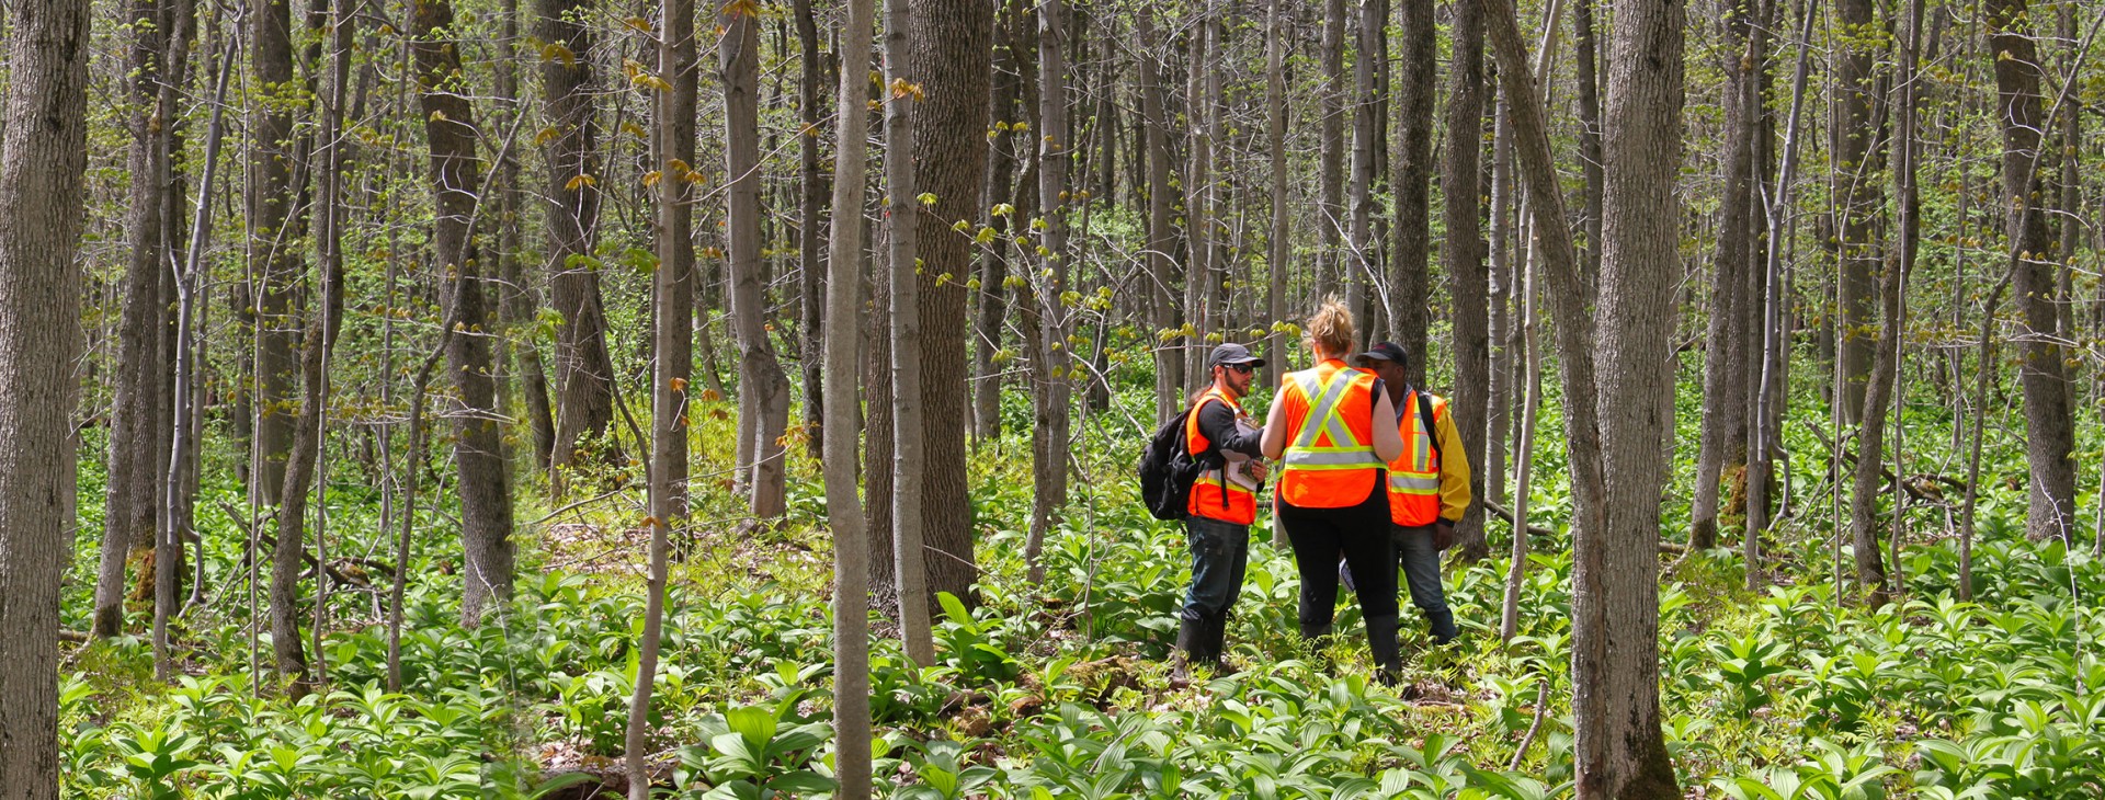
[[[1278,499],[1299,507],[1351,507],[1375,491],[1375,375],[1332,358],[1280,381],[1286,429]]]

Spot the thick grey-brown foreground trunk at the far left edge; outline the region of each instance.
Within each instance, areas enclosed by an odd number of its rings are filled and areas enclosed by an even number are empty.
[[[0,796],[59,796],[59,581],[80,396],[84,0],[17,4],[0,141]]]

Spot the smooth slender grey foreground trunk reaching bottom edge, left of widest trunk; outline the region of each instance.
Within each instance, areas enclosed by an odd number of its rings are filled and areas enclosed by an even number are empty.
[[[850,324],[863,303],[863,171],[869,105],[869,27],[876,0],[848,0],[848,27],[840,38],[838,128],[834,131],[834,229],[827,251],[825,309],[840,324],[825,328],[825,518],[834,528],[834,741],[869,741],[869,537],[863,503],[855,495],[855,381],[859,331]],[[882,339],[882,337],[878,337]],[[871,440],[876,442],[876,440]],[[867,800],[869,749],[838,747],[834,789],[842,800]]]

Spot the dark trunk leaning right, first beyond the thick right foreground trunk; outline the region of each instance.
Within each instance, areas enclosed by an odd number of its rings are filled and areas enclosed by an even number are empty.
[[[1697,488],[1690,501],[1688,552],[1718,547],[1718,495],[1724,476],[1747,463],[1747,305],[1756,284],[1753,225],[1762,185],[1753,154],[1762,128],[1760,72],[1768,61],[1772,2],[1735,6],[1724,32],[1739,59],[1726,63],[1724,187],[1718,202],[1718,251],[1711,255],[1711,307],[1703,354],[1703,434],[1697,451]]]

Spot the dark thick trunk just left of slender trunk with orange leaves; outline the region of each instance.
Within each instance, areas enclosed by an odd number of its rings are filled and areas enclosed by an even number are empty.
[[[598,120],[592,86],[592,4],[537,0],[541,99],[547,103],[547,288],[562,316],[556,328],[556,453],[552,467],[598,453],[615,421],[615,362],[606,354],[606,312],[592,253],[600,223]],[[644,446],[638,442],[638,446]],[[606,457],[615,451],[608,446]],[[592,461],[592,459],[587,459]],[[560,484],[560,482],[558,482]]]

